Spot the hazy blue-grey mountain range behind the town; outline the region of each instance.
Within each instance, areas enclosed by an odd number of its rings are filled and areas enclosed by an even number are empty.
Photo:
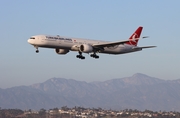
[[[62,106],[180,111],[180,79],[161,80],[137,73],[103,82],[52,78],[31,86],[0,89],[1,108]]]

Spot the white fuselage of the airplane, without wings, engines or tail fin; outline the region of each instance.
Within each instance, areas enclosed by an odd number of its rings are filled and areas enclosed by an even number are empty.
[[[33,37],[33,38],[32,38]],[[66,38],[61,36],[47,36],[47,35],[36,35],[28,39],[28,43],[35,47],[54,48],[54,49],[66,49],[70,51],[79,51],[79,46],[83,44],[94,45],[109,43],[107,41],[90,40],[90,39],[79,39],[79,38]],[[134,45],[120,44],[104,47],[99,53],[107,54],[123,54],[134,51],[133,48],[137,47]],[[88,52],[91,53],[91,52]]]

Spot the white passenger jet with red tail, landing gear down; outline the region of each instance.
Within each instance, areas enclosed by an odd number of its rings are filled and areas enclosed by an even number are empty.
[[[97,53],[105,54],[125,54],[136,51],[141,51],[144,48],[153,48],[156,46],[138,47],[143,27],[138,27],[137,30],[130,36],[129,39],[116,42],[80,39],[80,38],[67,38],[62,36],[51,35],[35,35],[28,39],[28,43],[36,48],[36,53],[39,52],[38,48],[53,48],[55,52],[60,55],[67,54],[69,51],[77,51],[79,54],[76,56],[79,59],[85,59],[82,53],[90,54],[91,57],[98,59]]]

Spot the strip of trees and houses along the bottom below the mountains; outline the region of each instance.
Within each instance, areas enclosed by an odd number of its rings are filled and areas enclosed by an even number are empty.
[[[139,111],[125,109],[121,111],[104,110],[102,108],[68,108],[40,109],[38,111],[21,109],[1,109],[0,118],[180,118],[180,112],[175,111]]]

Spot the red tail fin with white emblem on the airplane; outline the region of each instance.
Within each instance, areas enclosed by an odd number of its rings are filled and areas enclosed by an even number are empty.
[[[137,40],[135,40],[135,39],[140,37],[142,29],[143,29],[143,27],[139,27],[139,28],[131,35],[131,37],[129,38],[129,42],[127,42],[126,44],[137,46],[137,43],[138,43],[138,40],[139,40],[139,39],[137,39]]]

